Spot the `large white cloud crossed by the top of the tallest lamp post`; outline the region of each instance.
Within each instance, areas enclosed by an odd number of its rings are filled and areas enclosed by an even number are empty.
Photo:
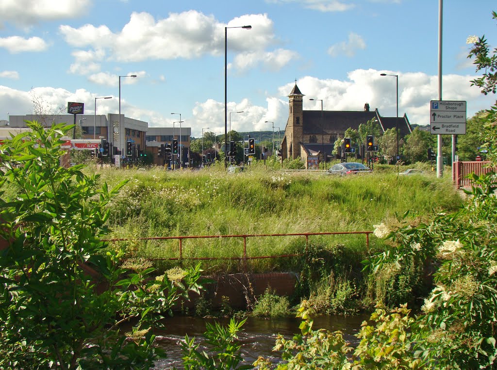
[[[102,49],[113,61],[140,62],[224,54],[224,27],[240,25],[251,25],[252,29],[228,30],[229,52],[262,50],[275,42],[273,22],[267,14],[244,15],[225,25],[195,10],[171,13],[157,21],[149,13],[133,12],[117,33],[91,24],[80,28],[62,25],[59,31],[72,46]]]

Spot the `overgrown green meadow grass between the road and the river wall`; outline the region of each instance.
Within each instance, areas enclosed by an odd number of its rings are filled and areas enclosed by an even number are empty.
[[[407,212],[410,222],[429,220],[462,203],[447,178],[431,173],[397,176],[396,166],[372,174],[327,176],[321,171],[285,172],[262,165],[229,174],[223,165],[195,171],[88,168],[102,181],[115,184],[130,179],[110,205],[109,238],[188,235],[247,235],[304,232],[372,231],[380,222],[396,224]],[[343,245],[360,260],[369,251],[364,235],[311,236],[323,248]],[[370,237],[369,250],[382,248]],[[113,243],[123,258],[178,257],[177,240]],[[303,236],[247,238],[248,256],[302,253]],[[242,257],[242,238],[185,239],[183,257]],[[195,261],[183,260],[188,266]],[[289,271],[299,258],[203,261],[210,272]],[[161,269],[178,262],[158,261]]]

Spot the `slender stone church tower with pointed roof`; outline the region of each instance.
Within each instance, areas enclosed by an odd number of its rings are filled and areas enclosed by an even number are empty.
[[[304,114],[302,112],[302,98],[304,94],[300,92],[295,81],[295,86],[292,92],[288,95],[289,112],[288,122],[286,124],[285,137],[286,137],[286,154],[287,158],[297,158],[300,156],[300,143],[304,139],[304,130],[302,128],[304,121]]]

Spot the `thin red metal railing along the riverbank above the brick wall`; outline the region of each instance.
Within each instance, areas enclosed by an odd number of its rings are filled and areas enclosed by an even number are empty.
[[[342,232],[302,232],[302,233],[291,233],[291,234],[247,234],[247,235],[194,235],[194,236],[153,236],[153,237],[142,237],[142,238],[117,238],[117,239],[102,239],[102,241],[107,242],[117,242],[117,241],[130,241],[130,240],[178,240],[178,257],[170,258],[152,258],[150,260],[249,260],[249,259],[264,259],[264,258],[279,258],[279,257],[295,257],[301,254],[284,254],[284,255],[273,255],[273,256],[248,256],[247,255],[247,239],[252,237],[275,237],[275,236],[305,236],[306,238],[306,248],[309,244],[309,236],[313,235],[345,235],[345,234],[364,234],[366,235],[366,247],[369,248],[369,234],[372,231],[342,231]],[[243,239],[243,254],[242,257],[183,257],[183,240],[185,239],[205,239],[205,238],[241,238]]]

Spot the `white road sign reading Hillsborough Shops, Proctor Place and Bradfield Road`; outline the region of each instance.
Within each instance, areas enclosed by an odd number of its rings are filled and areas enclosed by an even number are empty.
[[[431,100],[430,133],[442,135],[466,134],[466,102]]]

